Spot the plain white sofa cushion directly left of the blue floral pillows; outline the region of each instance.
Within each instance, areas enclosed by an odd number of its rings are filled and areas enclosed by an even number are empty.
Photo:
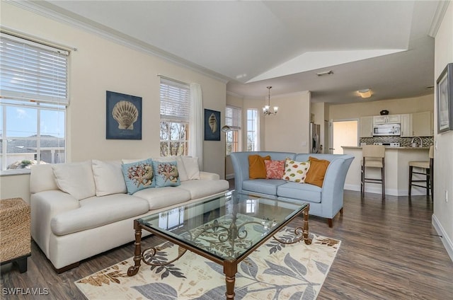
[[[96,196],[124,194],[127,192],[120,161],[92,161]]]

